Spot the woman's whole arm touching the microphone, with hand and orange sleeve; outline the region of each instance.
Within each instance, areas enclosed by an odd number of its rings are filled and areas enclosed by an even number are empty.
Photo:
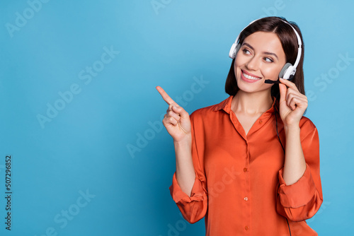
[[[280,78],[280,117],[286,146],[284,167],[279,171],[277,211],[293,221],[314,216],[323,201],[319,176],[319,134],[302,117],[307,97],[296,85]],[[288,88],[287,88],[288,86]]]

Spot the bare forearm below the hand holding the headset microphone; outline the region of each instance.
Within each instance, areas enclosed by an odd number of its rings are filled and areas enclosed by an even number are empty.
[[[297,182],[304,175],[306,163],[302,152],[299,125],[285,126],[284,129],[286,147],[283,178],[285,183],[290,185]]]

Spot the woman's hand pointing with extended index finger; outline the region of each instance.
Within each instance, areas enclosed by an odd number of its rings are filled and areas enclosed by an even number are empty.
[[[159,91],[161,97],[169,105],[162,123],[167,132],[172,136],[173,141],[190,141],[190,119],[189,114],[182,107],[180,107],[160,86],[156,89]]]

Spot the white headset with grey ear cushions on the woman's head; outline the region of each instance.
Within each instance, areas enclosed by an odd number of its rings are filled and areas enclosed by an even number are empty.
[[[262,19],[262,18],[261,18]],[[261,19],[257,19],[257,20],[261,20]],[[280,19],[280,18],[279,18]],[[249,23],[249,25],[251,25],[252,23],[256,22],[257,20],[253,20],[251,23]],[[280,19],[282,20],[282,19]],[[287,21],[282,20],[284,23],[287,23]],[[288,25],[290,25],[290,23],[287,23]],[[249,27],[249,25],[247,25],[244,29],[246,29],[247,27]],[[296,72],[296,67],[299,64],[300,58],[301,58],[301,54],[302,54],[302,41],[301,38],[299,36],[299,34],[297,33],[297,31],[295,30],[294,27],[292,27],[292,25],[290,25],[292,30],[294,30],[296,37],[297,37],[297,44],[299,45],[298,49],[297,49],[297,57],[296,57],[296,61],[295,64],[292,65],[291,63],[287,62],[287,64],[285,64],[282,67],[282,70],[279,73],[279,78],[284,78],[284,79],[292,79],[295,76],[295,72]],[[244,31],[241,30],[242,31]],[[237,52],[239,52],[239,49],[241,47],[241,45],[239,45],[239,37],[240,37],[241,33],[239,33],[239,35],[236,37],[236,40],[234,42],[234,44],[232,45],[230,52],[229,52],[229,57],[234,59],[236,57]]]

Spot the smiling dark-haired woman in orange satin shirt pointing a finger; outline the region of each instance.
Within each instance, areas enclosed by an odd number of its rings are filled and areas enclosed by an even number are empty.
[[[230,96],[218,105],[189,116],[156,87],[169,104],[163,123],[176,152],[171,196],[189,223],[205,216],[207,235],[317,235],[305,221],[323,197],[319,136],[303,116],[300,30],[268,17],[238,38]],[[278,78],[287,63],[298,63],[292,81]]]

